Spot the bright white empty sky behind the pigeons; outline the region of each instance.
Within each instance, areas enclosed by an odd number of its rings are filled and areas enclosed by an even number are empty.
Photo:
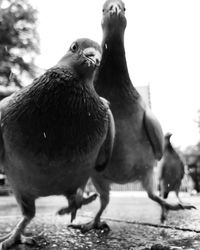
[[[163,131],[182,148],[200,134],[200,1],[124,0],[125,49],[135,86],[150,84],[152,110]],[[101,43],[103,0],[31,0],[38,9],[41,55],[37,64],[53,66],[73,40]]]

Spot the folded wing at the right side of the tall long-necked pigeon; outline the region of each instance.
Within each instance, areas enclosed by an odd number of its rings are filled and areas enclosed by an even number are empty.
[[[160,123],[148,108],[144,112],[144,128],[155,157],[157,160],[160,160],[164,151],[164,135]]]

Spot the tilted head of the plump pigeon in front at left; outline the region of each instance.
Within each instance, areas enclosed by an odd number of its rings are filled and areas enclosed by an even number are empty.
[[[91,78],[100,65],[101,47],[95,41],[81,38],[74,41],[57,66],[72,69],[81,77]]]

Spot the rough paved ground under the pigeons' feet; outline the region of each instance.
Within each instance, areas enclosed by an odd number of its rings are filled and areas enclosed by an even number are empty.
[[[200,197],[181,194],[184,202],[198,209],[170,212],[165,225],[159,222],[160,208],[143,192],[112,193],[111,202],[103,218],[111,232],[90,232],[67,228],[69,216],[55,216],[58,208],[66,205],[63,197],[48,197],[37,201],[37,216],[27,228],[35,235],[37,246],[20,245],[15,250],[45,249],[200,249]],[[169,199],[175,202],[173,195]],[[75,223],[87,222],[98,209],[98,201],[78,212]],[[0,234],[4,235],[17,223],[20,212],[13,197],[0,197]],[[158,244],[161,244],[159,247]],[[166,246],[164,248],[164,246]],[[152,248],[151,248],[152,247]]]

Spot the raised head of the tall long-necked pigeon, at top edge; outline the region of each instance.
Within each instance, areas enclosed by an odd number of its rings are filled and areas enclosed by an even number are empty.
[[[124,32],[126,28],[125,5],[121,0],[107,0],[103,5],[102,28],[110,33]]]

